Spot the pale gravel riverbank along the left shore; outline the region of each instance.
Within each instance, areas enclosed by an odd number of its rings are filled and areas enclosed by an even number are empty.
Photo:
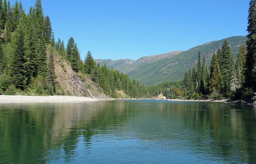
[[[0,103],[62,103],[62,102],[90,102],[99,101],[96,98],[76,97],[76,96],[0,96]]]

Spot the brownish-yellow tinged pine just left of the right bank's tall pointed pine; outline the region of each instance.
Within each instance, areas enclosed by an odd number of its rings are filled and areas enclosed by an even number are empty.
[[[210,79],[209,79],[209,90],[210,92],[220,93],[221,89],[221,73],[218,63],[218,57],[215,52],[213,58],[211,58],[210,64]]]

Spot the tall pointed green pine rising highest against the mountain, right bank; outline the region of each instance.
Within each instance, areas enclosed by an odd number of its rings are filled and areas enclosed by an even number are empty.
[[[230,97],[233,59],[228,41],[225,40],[221,47],[219,59],[221,77],[222,77],[222,93],[224,97]]]

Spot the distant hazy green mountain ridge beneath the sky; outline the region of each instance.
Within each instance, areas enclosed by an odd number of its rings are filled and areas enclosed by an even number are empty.
[[[225,38],[229,42],[233,56],[236,58],[240,44],[247,41],[247,37],[235,36]],[[198,51],[206,54],[207,62],[210,63],[211,55],[217,51],[225,39],[208,42],[188,51],[175,51],[155,56],[142,57],[137,61],[120,59],[117,61],[97,59],[101,65],[127,73],[131,78],[136,78],[145,85],[154,85],[165,81],[176,81],[183,78],[185,71],[192,68],[197,61]]]

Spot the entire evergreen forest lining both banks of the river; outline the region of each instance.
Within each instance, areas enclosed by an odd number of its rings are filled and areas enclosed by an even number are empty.
[[[58,52],[77,74],[88,76],[104,90],[105,95],[118,98],[152,98],[163,93],[166,98],[188,99],[249,99],[256,92],[255,85],[255,9],[250,2],[248,41],[239,48],[235,60],[228,41],[214,52],[206,66],[205,54],[198,53],[198,61],[185,73],[183,81],[165,82],[157,86],[143,86],[127,74],[96,64],[88,51],[81,59],[75,39],[55,41],[51,21],[43,14],[41,0],[26,13],[22,3],[0,0],[0,94],[56,95],[53,51]],[[50,52],[50,53],[47,53]]]

